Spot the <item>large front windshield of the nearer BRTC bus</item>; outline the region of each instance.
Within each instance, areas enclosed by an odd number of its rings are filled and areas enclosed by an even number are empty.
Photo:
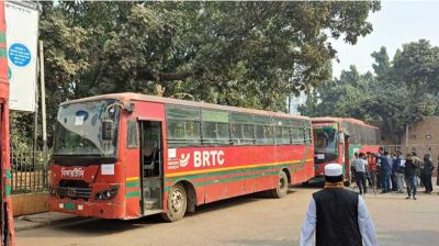
[[[115,157],[120,108],[115,100],[60,105],[54,156]],[[102,138],[102,121],[113,121],[112,139]]]

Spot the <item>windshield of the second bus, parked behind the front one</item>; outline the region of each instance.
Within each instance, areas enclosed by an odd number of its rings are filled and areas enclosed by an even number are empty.
[[[322,154],[338,153],[338,131],[334,126],[314,127],[314,150]]]

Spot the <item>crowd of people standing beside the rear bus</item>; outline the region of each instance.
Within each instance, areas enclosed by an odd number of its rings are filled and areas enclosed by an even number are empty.
[[[381,188],[381,193],[391,191],[404,193],[406,185],[407,199],[413,197],[415,200],[418,186],[425,187],[425,193],[432,192],[434,169],[429,154],[426,154],[424,159],[417,157],[415,152],[408,153],[404,157],[399,150],[391,155],[382,147],[376,154],[354,153],[351,161],[351,172],[360,194],[368,192],[367,185],[372,188]],[[439,179],[437,185],[439,186]]]

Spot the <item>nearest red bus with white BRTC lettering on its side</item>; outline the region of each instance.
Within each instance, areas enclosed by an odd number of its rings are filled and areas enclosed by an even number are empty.
[[[52,211],[104,219],[161,213],[314,176],[311,119],[135,93],[59,107]]]

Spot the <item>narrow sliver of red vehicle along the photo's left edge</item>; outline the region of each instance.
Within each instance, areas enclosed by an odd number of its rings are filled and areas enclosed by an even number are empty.
[[[0,1],[0,245],[14,245],[9,159],[9,81],[5,43],[4,1]]]

